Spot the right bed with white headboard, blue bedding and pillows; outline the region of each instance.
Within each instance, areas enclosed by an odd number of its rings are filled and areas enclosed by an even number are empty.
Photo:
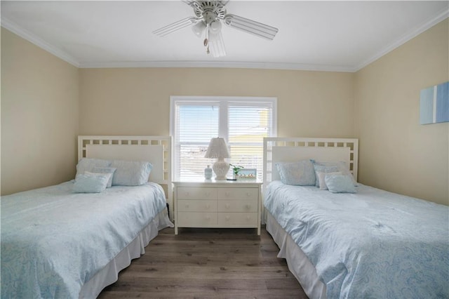
[[[309,298],[449,298],[449,207],[357,182],[354,138],[264,138],[264,221]]]

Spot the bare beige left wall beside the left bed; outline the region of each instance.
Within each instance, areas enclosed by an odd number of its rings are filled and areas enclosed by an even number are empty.
[[[1,194],[74,177],[78,69],[1,28]]]

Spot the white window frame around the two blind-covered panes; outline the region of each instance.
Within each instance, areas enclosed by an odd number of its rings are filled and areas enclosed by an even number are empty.
[[[176,105],[181,102],[183,105],[218,105],[219,106],[219,119],[218,119],[218,136],[225,138],[229,144],[229,124],[228,113],[229,105],[257,105],[267,104],[271,105],[272,109],[272,135],[268,137],[277,136],[277,98],[276,97],[246,97],[246,96],[194,96],[194,95],[172,95],[170,96],[170,135],[173,138],[173,150],[172,150],[172,174],[173,180],[180,180],[180,169],[177,169],[177,159],[179,159],[179,153],[177,152],[177,136],[176,136]],[[261,147],[263,147],[263,142]],[[263,170],[262,170],[263,171]]]

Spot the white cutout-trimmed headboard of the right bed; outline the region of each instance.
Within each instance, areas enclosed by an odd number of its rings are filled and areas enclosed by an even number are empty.
[[[357,180],[358,139],[354,138],[264,138],[263,183],[279,180],[274,168],[278,161],[316,159],[345,161]]]

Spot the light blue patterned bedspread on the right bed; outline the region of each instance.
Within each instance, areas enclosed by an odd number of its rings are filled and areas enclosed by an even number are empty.
[[[316,267],[328,298],[449,298],[449,207],[357,191],[274,181],[264,206]]]

